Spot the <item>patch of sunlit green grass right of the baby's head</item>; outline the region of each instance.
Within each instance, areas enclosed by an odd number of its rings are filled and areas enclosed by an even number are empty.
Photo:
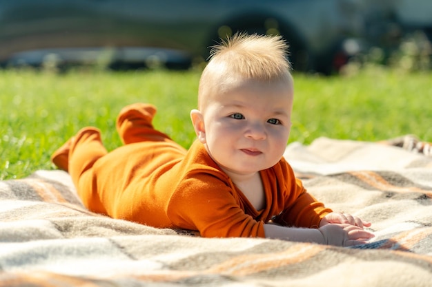
[[[380,69],[349,78],[297,75],[291,140],[375,141],[403,134],[432,140],[431,78],[431,72]]]

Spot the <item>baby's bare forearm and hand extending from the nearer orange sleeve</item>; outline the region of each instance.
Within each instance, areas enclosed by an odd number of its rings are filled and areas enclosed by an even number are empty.
[[[364,244],[373,237],[369,231],[351,224],[324,224],[318,229],[264,224],[264,232],[268,238],[335,246]]]

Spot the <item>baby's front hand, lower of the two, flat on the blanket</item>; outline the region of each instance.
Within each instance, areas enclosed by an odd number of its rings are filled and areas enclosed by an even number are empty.
[[[351,224],[326,224],[318,230],[322,233],[325,244],[335,246],[365,244],[374,237],[369,231]]]

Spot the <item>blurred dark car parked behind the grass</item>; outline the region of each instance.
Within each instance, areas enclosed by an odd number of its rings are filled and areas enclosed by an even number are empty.
[[[356,0],[0,0],[0,63],[205,61],[237,31],[282,34],[293,69],[329,73],[355,52]]]

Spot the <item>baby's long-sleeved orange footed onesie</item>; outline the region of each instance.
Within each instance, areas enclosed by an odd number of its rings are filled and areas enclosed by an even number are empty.
[[[58,158],[67,153],[63,169],[90,211],[149,226],[195,230],[203,237],[265,237],[269,220],[317,228],[331,212],[306,192],[284,158],[260,171],[266,206],[257,211],[201,142],[186,151],[153,129],[154,114],[152,105],[124,108],[117,129],[125,145],[110,153],[99,131],[88,127],[53,155],[61,167]]]

